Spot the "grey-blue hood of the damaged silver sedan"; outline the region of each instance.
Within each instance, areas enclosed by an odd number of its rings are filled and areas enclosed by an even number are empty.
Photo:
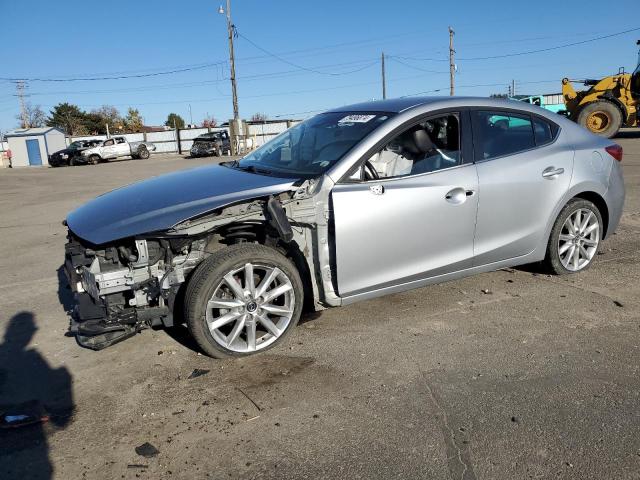
[[[78,237],[95,245],[166,230],[216,208],[292,188],[294,179],[219,165],[150,178],[100,195],[67,216]]]

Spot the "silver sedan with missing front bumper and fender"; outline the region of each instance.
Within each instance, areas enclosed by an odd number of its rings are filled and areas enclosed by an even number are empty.
[[[330,110],[240,160],[71,212],[71,332],[100,349],[184,319],[204,352],[237,357],[277,345],[303,306],[540,261],[577,273],[618,226],[621,160],[619,145],[522,102]]]

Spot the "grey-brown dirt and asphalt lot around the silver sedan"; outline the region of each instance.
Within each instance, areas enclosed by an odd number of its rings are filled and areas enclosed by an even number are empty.
[[[102,352],[64,336],[65,214],[210,160],[0,171],[0,405],[51,414],[0,429],[0,478],[640,478],[640,135],[618,141],[626,210],[590,270],[325,311],[241,361],[180,330]]]

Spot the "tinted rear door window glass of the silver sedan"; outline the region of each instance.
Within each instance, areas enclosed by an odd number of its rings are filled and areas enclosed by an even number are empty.
[[[476,145],[481,160],[513,155],[536,146],[529,115],[507,112],[472,112],[480,144]]]

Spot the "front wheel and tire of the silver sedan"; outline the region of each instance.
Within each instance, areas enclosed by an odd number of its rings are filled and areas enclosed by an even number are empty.
[[[254,295],[243,298],[252,290],[245,279],[247,265],[255,287]],[[264,285],[267,277],[273,279]],[[207,355],[243,357],[281,343],[298,323],[303,303],[293,262],[272,248],[245,243],[216,251],[196,268],[185,292],[184,318]]]

